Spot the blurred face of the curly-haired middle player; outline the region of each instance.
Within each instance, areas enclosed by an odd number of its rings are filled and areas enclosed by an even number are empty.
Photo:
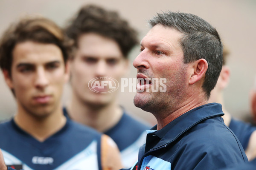
[[[128,70],[128,60],[123,57],[119,45],[99,34],[82,34],[78,39],[78,49],[70,60],[71,85],[73,95],[90,105],[108,105],[116,98],[117,92],[105,93],[108,87],[91,91],[88,83],[96,77],[111,77],[120,82]]]

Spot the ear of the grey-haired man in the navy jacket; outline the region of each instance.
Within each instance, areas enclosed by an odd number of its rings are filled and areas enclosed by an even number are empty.
[[[193,85],[195,82],[204,77],[205,72],[208,69],[208,63],[205,59],[198,59],[195,62],[192,62],[192,74],[189,79],[189,85]]]

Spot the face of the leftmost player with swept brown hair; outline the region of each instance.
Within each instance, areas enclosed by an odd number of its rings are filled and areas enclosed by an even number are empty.
[[[61,106],[61,94],[68,79],[61,49],[53,44],[26,41],[12,52],[12,74],[5,73],[15,91],[18,110],[37,117],[53,113]]]

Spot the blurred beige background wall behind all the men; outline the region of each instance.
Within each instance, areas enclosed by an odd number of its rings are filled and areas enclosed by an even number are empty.
[[[137,28],[140,39],[148,31],[146,20],[157,12],[181,11],[207,20],[217,28],[230,49],[227,64],[231,79],[224,91],[226,108],[237,118],[249,114],[249,91],[256,76],[256,0],[0,0],[0,34],[11,22],[26,14],[40,14],[64,26],[67,19],[88,3],[118,11]],[[139,47],[130,54],[131,71],[127,77],[136,77],[132,61],[138,54]],[[69,92],[69,85],[66,85],[63,102],[69,98]],[[120,93],[121,105],[154,124],[151,113],[134,107],[134,94]],[[15,99],[0,74],[0,119],[11,117],[15,109]]]

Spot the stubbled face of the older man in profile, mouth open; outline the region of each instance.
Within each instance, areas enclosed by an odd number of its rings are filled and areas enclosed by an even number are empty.
[[[156,25],[141,41],[141,52],[133,62],[137,78],[166,78],[166,92],[152,92],[151,82],[137,85],[134,105],[145,111],[161,111],[166,107],[179,107],[188,83],[187,65],[183,62],[180,45],[182,34],[172,28]],[[149,92],[146,91],[149,88]]]

